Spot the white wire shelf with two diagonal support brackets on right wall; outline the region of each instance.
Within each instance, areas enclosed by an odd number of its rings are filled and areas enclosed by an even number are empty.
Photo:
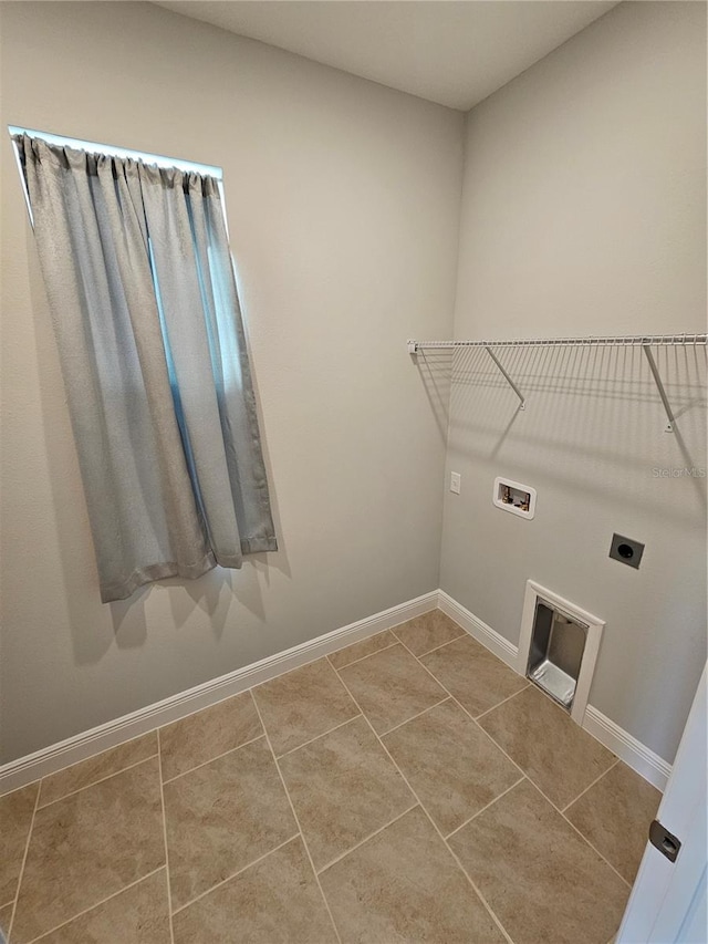
[[[525,397],[511,380],[499,357],[491,350],[492,347],[642,347],[646,356],[652,377],[656,384],[656,388],[662,400],[662,405],[666,411],[668,419],[664,430],[674,433],[676,427],[676,416],[671,409],[666,388],[657,367],[656,360],[652,353],[652,347],[667,347],[676,345],[706,345],[708,343],[708,334],[628,334],[620,338],[528,338],[528,339],[509,339],[499,341],[408,341],[408,353],[416,356],[419,352],[426,349],[435,350],[456,350],[458,347],[483,347],[494,362],[503,378],[507,381],[511,390],[519,397],[520,409],[525,409]]]

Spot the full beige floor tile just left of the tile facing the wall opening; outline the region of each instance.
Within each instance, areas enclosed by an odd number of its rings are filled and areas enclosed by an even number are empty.
[[[447,836],[521,776],[454,702],[444,702],[383,738]]]

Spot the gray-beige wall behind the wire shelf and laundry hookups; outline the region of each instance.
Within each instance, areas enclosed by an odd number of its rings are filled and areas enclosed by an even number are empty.
[[[468,116],[456,338],[706,330],[706,7],[623,3]],[[590,702],[673,760],[706,657],[705,350],[455,365],[441,587],[514,644],[531,578],[607,622]],[[496,476],[538,489],[494,508]],[[646,543],[635,571],[613,531]]]

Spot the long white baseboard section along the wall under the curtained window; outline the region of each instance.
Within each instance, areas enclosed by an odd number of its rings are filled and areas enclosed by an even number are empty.
[[[129,715],[74,735],[59,744],[29,754],[27,757],[12,760],[0,767],[0,795],[17,790],[41,777],[55,774],[64,767],[85,760],[87,757],[101,754],[102,750],[108,750],[111,747],[132,740],[170,722],[177,722],[223,698],[238,695],[247,688],[282,675],[283,672],[290,672],[292,668],[321,658],[337,649],[352,645],[384,630],[391,630],[399,623],[405,623],[406,620],[434,610],[437,605],[438,591],[434,590],[406,603],[383,610],[373,616],[357,620],[347,626],[300,643],[284,652],[275,653],[243,668],[237,668],[236,672],[229,672],[227,675],[196,685],[186,692],[171,695],[154,705],[147,705]]]

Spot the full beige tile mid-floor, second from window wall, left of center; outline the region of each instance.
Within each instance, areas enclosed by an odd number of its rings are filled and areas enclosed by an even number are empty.
[[[362,717],[285,755],[280,769],[317,870],[416,802]]]

